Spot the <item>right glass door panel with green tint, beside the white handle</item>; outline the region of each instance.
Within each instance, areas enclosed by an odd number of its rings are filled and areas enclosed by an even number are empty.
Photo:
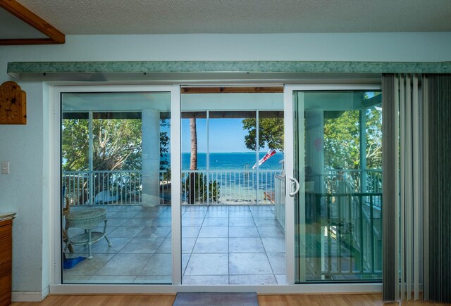
[[[382,278],[379,91],[295,91],[296,282]]]

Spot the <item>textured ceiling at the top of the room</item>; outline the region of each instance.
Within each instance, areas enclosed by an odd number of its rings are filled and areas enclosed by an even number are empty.
[[[451,31],[451,0],[18,2],[64,34]]]

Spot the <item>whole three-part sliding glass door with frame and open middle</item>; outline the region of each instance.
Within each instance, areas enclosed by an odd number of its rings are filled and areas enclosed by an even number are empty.
[[[58,90],[61,283],[381,281],[378,87]]]

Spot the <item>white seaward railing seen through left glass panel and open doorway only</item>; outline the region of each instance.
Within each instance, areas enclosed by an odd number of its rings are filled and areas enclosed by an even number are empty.
[[[282,170],[183,171],[182,203],[271,204],[276,195],[274,176],[281,173]],[[62,181],[71,205],[130,205],[142,200],[139,170],[65,171]],[[159,185],[160,204],[171,203],[171,179],[166,171],[159,172]]]

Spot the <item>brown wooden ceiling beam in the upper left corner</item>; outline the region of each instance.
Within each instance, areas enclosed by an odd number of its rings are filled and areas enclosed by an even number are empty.
[[[0,0],[0,7],[49,37],[49,39],[0,39],[0,45],[64,44],[64,42],[66,42],[66,35],[56,29],[53,25],[47,23],[46,20],[40,18],[28,8],[18,3],[18,1]]]

